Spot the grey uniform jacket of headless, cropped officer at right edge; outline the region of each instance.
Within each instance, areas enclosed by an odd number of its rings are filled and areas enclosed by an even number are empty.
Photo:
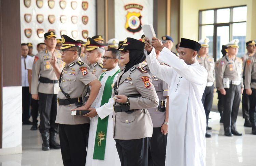
[[[247,59],[244,76],[245,89],[256,89],[256,82],[251,82],[252,79],[256,80],[256,54]]]

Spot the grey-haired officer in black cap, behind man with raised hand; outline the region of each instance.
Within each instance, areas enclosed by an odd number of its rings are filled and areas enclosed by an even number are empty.
[[[90,37],[87,38],[87,61],[90,63],[89,67],[91,72],[93,72],[97,78],[99,78],[101,73],[106,71],[106,69],[103,69],[101,57],[105,54],[104,46],[107,45],[108,44],[98,43]]]

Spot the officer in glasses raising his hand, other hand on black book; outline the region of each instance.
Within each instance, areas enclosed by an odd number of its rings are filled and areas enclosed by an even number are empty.
[[[90,121],[87,117],[72,116],[71,109],[83,105],[83,98],[89,85],[91,93],[83,106],[85,110],[88,110],[95,100],[101,84],[79,58],[83,43],[77,42],[67,35],[62,35],[62,43],[61,59],[66,62],[62,72],[56,64],[56,57],[51,59],[54,72],[59,77],[60,91],[56,123],[59,123],[61,155],[65,166],[85,165],[86,135],[89,131]]]

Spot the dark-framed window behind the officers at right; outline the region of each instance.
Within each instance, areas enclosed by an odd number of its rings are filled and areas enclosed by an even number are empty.
[[[246,6],[233,6],[219,9],[199,11],[199,40],[208,37],[209,55],[215,60],[222,57],[222,45],[233,39],[239,39],[238,57],[242,57],[246,50]]]

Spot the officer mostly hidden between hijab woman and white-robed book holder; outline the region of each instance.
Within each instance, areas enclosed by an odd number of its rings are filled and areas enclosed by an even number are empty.
[[[156,51],[156,58],[158,58],[160,52]],[[144,54],[147,54],[144,50]],[[160,63],[166,65],[165,63]],[[167,144],[168,133],[168,121],[169,121],[169,89],[170,86],[157,76],[151,74],[149,67],[146,65],[143,67],[145,71],[151,76],[152,84],[158,92],[159,105],[155,108],[149,108],[150,116],[153,123],[153,135],[150,140],[150,148],[148,150],[148,166],[164,166],[165,154]]]

